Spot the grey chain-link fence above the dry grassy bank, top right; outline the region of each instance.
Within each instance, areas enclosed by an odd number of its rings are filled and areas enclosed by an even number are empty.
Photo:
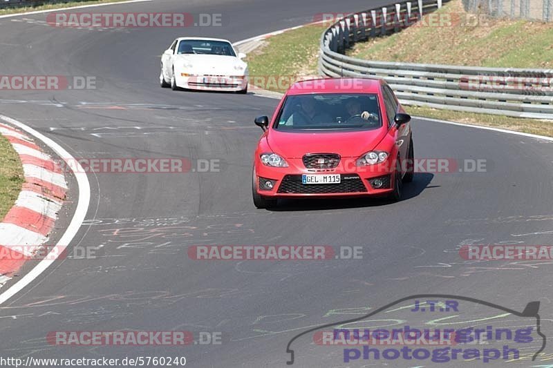
[[[553,0],[462,0],[467,12],[491,17],[553,21]]]

